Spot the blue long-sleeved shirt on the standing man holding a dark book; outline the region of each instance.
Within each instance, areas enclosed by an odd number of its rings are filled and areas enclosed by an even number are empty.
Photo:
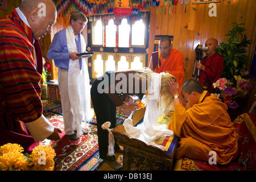
[[[76,39],[75,39],[76,40]],[[76,40],[77,52],[81,53],[81,42],[80,34],[78,34],[78,41]],[[69,66],[69,52],[68,52],[68,43],[66,30],[63,29],[57,32],[53,39],[51,46],[47,52],[48,59],[53,59],[56,67],[61,69],[67,69]],[[82,68],[82,59],[79,59],[80,69]]]

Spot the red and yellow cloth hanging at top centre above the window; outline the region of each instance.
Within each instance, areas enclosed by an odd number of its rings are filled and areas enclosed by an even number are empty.
[[[113,14],[118,16],[133,15],[133,10],[131,9],[131,1],[115,0]]]

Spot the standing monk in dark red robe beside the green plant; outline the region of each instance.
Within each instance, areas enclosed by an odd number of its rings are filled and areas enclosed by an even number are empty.
[[[209,38],[205,42],[205,47],[208,50],[205,52],[205,56],[202,63],[197,63],[196,68],[200,69],[199,82],[203,85],[205,90],[209,93],[213,93],[213,83],[221,77],[224,68],[223,57],[216,52],[218,48],[218,40],[214,38]]]

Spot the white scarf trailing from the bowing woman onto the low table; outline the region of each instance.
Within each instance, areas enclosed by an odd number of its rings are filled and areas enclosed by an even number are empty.
[[[137,138],[146,144],[165,150],[166,147],[160,146],[154,142],[154,140],[161,137],[174,135],[173,131],[167,129],[167,125],[157,125],[159,117],[158,99],[161,88],[161,76],[161,73],[152,73],[150,92],[148,93],[148,103],[142,124],[134,127],[133,119],[131,119],[133,113],[131,113],[129,118],[123,122],[123,126],[130,138]]]

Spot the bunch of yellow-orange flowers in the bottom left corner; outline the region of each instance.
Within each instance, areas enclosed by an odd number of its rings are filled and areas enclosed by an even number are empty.
[[[39,145],[31,154],[22,154],[23,147],[19,144],[7,143],[0,147],[1,171],[52,171],[54,169],[53,158],[56,156],[51,146]]]

